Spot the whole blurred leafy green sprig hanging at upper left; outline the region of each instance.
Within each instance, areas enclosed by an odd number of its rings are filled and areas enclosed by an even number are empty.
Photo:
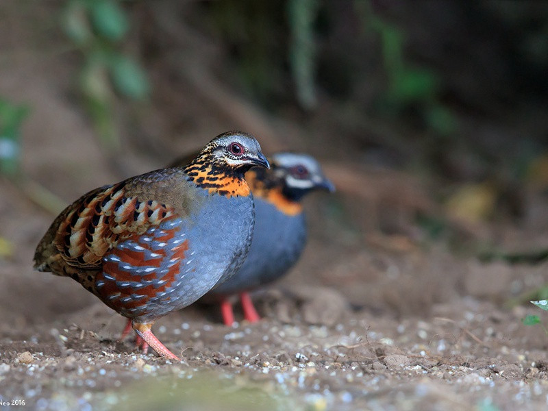
[[[68,0],[62,18],[66,35],[84,55],[79,88],[88,113],[107,150],[120,148],[114,118],[114,92],[147,99],[147,75],[122,49],[129,20],[116,0]]]

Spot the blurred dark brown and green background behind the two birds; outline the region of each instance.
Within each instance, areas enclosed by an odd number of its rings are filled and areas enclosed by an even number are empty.
[[[8,197],[55,214],[242,129],[321,160],[318,238],[545,257],[545,2],[5,0],[0,20]]]

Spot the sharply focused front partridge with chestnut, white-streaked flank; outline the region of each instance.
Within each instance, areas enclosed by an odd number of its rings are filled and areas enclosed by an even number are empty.
[[[36,247],[38,271],[72,277],[131,322],[138,343],[179,360],[151,331],[233,275],[254,226],[252,166],[269,168],[244,132],[216,136],[188,164],[103,186],[74,201]]]

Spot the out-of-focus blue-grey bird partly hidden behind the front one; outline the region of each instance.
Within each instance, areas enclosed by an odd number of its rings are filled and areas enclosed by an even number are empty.
[[[246,173],[255,201],[255,230],[247,258],[236,274],[200,300],[219,303],[228,326],[234,323],[234,295],[239,295],[247,321],[260,320],[249,291],[283,277],[299,260],[307,236],[301,200],[314,190],[335,191],[311,155],[280,152],[269,161],[271,169],[253,167]]]

